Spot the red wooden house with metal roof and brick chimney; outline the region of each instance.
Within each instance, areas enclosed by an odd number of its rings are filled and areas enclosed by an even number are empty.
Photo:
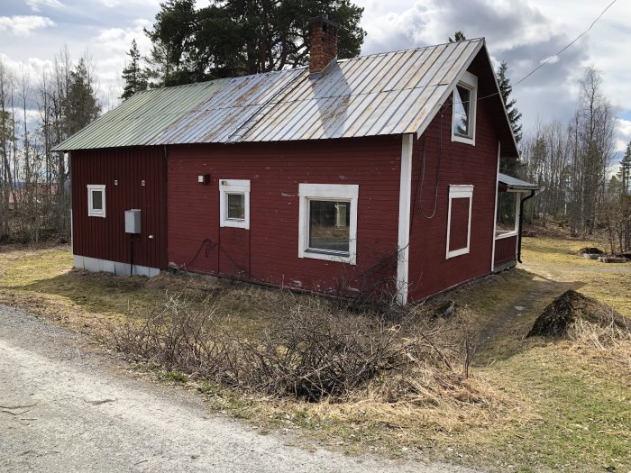
[[[323,17],[311,41],[308,68],[140,92],[61,143],[75,266],[406,303],[514,265],[534,187],[498,180],[484,40],[337,60]]]

